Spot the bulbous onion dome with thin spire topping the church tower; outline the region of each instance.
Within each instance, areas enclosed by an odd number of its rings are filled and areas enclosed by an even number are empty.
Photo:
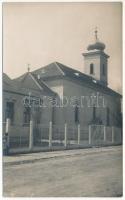
[[[98,40],[98,37],[97,37],[97,29],[95,30],[95,43],[94,44],[90,44],[88,47],[87,47],[87,50],[88,51],[91,51],[91,50],[100,50],[100,51],[103,51],[105,49],[105,44],[100,42]]]

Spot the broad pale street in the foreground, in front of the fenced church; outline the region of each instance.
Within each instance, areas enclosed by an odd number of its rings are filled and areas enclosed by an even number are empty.
[[[44,157],[47,155],[47,159],[4,166],[4,196],[116,197],[122,195],[122,148],[120,146],[99,148],[96,151],[82,149],[57,153],[46,152],[39,153],[38,157],[43,154]],[[53,154],[58,156],[52,156]],[[51,157],[49,158],[48,155]],[[29,156],[31,159],[31,154]],[[10,160],[14,160],[14,157]]]

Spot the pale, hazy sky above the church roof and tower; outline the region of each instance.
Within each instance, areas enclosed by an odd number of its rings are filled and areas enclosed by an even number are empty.
[[[109,87],[122,86],[121,3],[3,3],[3,71],[15,78],[51,62],[84,72],[94,29],[110,56]]]

